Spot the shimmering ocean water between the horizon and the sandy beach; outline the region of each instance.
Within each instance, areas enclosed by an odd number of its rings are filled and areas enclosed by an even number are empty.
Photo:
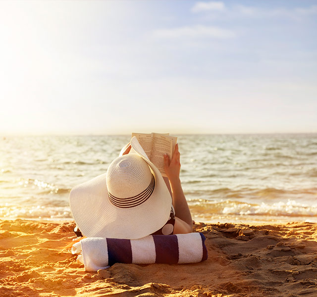
[[[202,222],[317,222],[317,134],[176,135]],[[69,220],[71,188],[105,173],[129,136],[0,138],[0,218]]]

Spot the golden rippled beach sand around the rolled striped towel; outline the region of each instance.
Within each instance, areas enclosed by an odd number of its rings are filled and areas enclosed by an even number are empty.
[[[209,258],[84,271],[73,222],[0,221],[0,296],[316,297],[317,224],[196,224]]]

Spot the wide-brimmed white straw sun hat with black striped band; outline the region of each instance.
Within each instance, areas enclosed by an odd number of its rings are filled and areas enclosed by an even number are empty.
[[[129,154],[74,187],[69,204],[84,236],[138,239],[164,226],[172,199],[159,169],[133,137]]]

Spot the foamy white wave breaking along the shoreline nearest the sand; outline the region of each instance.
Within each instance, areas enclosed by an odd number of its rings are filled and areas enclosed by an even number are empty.
[[[34,201],[32,205],[5,205],[0,207],[1,218],[32,218],[32,219],[59,219],[71,218],[71,212],[66,200]],[[189,199],[189,207],[193,216],[208,220],[208,217],[243,216],[256,217],[315,217],[317,218],[317,205],[298,203],[295,200],[276,203],[246,203],[233,200],[210,201],[208,199]]]

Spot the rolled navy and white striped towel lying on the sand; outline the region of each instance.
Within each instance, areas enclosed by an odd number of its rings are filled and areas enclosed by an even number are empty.
[[[72,247],[86,271],[106,269],[114,263],[181,264],[207,260],[202,233],[149,235],[135,240],[85,238]]]

